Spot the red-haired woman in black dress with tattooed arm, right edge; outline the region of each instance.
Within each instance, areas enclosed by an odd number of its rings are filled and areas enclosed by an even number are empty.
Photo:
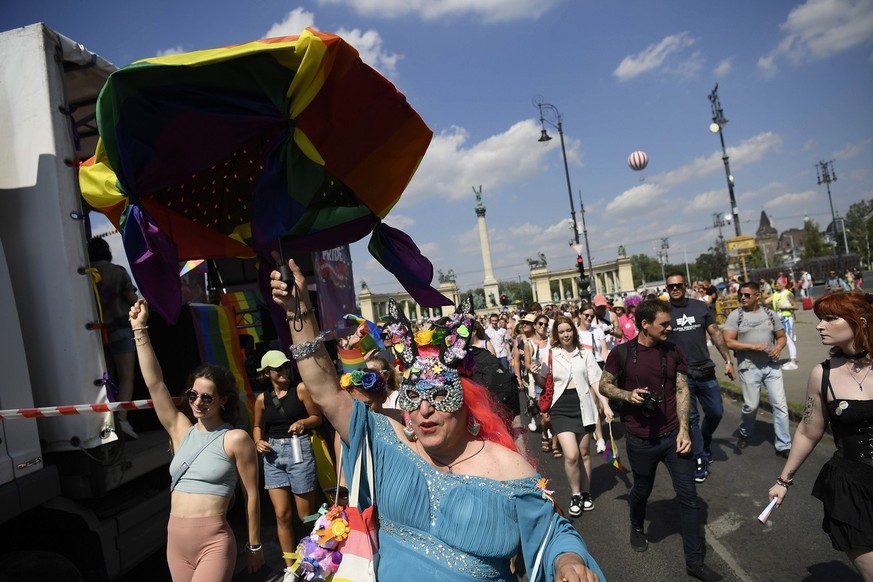
[[[791,454],[769,498],[781,505],[794,475],[824,436],[828,423],[837,450],[818,474],[812,494],[824,504],[822,529],[873,582],[873,307],[870,295],[837,291],[815,302],[821,341],[830,359],[813,368],[806,411]]]

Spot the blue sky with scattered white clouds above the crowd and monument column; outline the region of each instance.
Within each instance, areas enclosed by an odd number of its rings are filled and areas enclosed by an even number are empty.
[[[708,130],[716,82],[744,235],[762,210],[780,231],[805,215],[824,228],[819,161],[834,160],[837,212],[873,198],[869,0],[16,0],[0,12],[3,30],[34,22],[118,66],[306,26],[343,36],[434,131],[386,222],[436,269],[453,269],[461,289],[482,281],[480,185],[498,280],[526,278],[525,259],[539,252],[552,267],[575,265],[560,144],[553,127],[556,139],[537,141],[536,95],[561,112],[595,263],[619,245],[654,256],[664,237],[671,262],[713,244],[713,214],[730,211]],[[634,150],[649,156],[642,172],[627,166]],[[366,244],[352,245],[357,281],[400,290]]]

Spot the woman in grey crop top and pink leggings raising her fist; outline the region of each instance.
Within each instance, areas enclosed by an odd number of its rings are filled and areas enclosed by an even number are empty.
[[[223,580],[236,566],[237,545],[227,523],[227,509],[242,485],[248,532],[246,567],[264,565],[261,551],[261,508],[258,458],[244,430],[233,428],[239,415],[239,395],[233,374],[221,366],[202,364],[188,380],[185,401],[194,424],[182,413],[167,385],[148,336],[148,304],[140,299],[130,308],[136,353],[155,412],[170,435],[172,495],[167,525],[167,563],[173,582]]]

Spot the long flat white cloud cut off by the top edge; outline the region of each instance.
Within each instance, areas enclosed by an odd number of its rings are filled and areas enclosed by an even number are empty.
[[[348,6],[362,16],[418,17],[439,20],[472,16],[482,22],[536,20],[561,0],[319,0],[319,4]]]

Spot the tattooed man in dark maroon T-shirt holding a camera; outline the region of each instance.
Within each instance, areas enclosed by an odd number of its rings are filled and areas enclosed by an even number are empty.
[[[636,311],[639,335],[609,353],[600,391],[624,403],[621,419],[634,477],[628,496],[631,547],[637,552],[649,547],[644,533],[646,504],[658,463],[664,463],[679,500],[686,572],[698,580],[721,580],[703,563],[706,540],[694,483],[695,462],[690,455],[688,365],[682,350],[667,341],[671,321],[666,301],[642,302]]]

